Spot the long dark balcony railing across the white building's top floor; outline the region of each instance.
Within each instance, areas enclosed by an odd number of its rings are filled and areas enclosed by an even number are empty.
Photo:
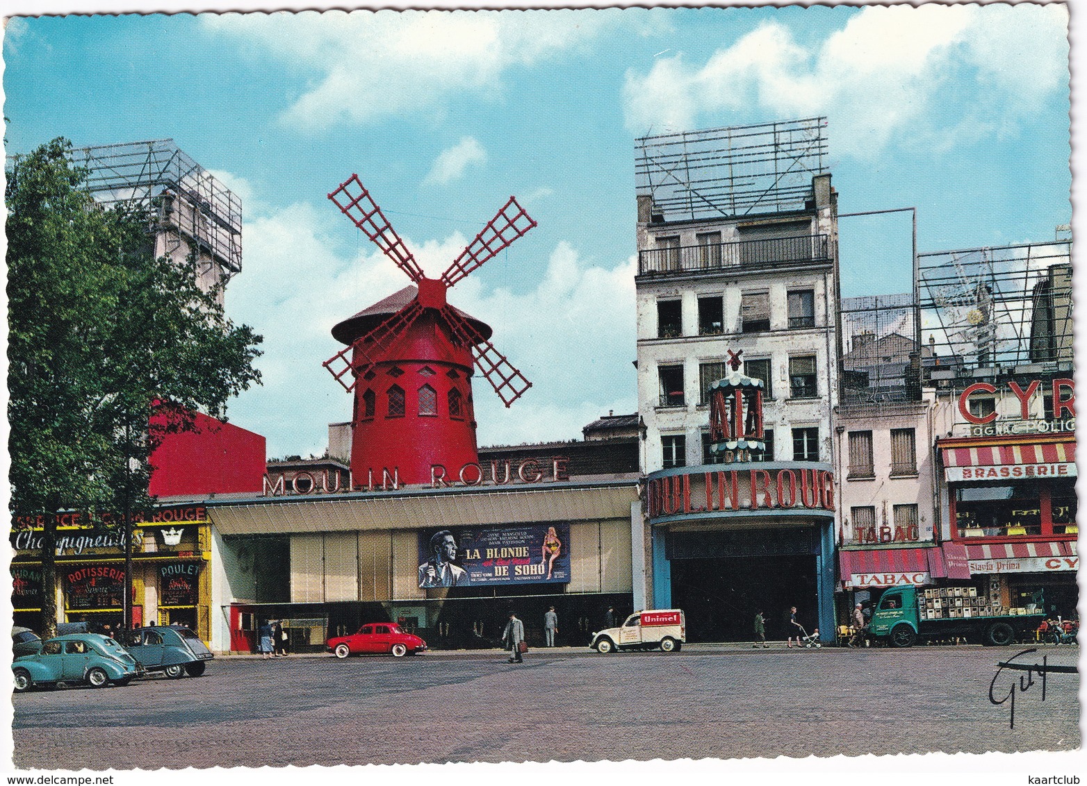
[[[638,252],[638,275],[663,276],[829,258],[830,242],[826,234],[739,240],[732,243],[678,245]]]

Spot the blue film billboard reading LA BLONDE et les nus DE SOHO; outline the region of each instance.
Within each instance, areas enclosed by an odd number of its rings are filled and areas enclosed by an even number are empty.
[[[566,584],[570,527],[565,523],[424,530],[418,538],[418,586]]]

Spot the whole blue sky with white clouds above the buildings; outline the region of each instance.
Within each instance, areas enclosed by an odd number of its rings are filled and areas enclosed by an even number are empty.
[[[243,203],[227,309],[265,337],[230,418],[320,454],[338,320],[407,279],[325,194],[352,172],[432,274],[510,194],[539,223],[451,302],[534,382],[475,382],[482,444],[636,408],[634,140],[826,115],[842,213],[916,206],[921,251],[1071,218],[1062,7],[17,18],[9,152],[173,138]],[[841,220],[842,294],[910,288],[909,214]]]

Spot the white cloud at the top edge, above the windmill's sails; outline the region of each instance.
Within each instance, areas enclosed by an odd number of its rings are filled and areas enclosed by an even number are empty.
[[[571,12],[327,11],[205,14],[220,35],[316,69],[282,119],[301,130],[441,112],[451,97],[493,100],[502,73],[572,50],[624,20],[617,9]]]

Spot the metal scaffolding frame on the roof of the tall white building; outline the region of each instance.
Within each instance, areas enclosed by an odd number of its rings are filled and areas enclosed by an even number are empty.
[[[802,211],[824,172],[825,117],[642,137],[635,142],[638,195],[654,220]]]

